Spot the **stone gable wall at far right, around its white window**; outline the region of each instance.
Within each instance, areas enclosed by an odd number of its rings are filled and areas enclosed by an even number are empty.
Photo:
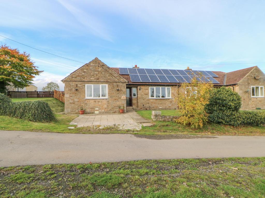
[[[256,75],[259,75],[260,78],[254,78]],[[235,91],[239,93],[242,98],[241,109],[251,110],[257,107],[265,109],[265,97],[251,97],[251,86],[265,87],[265,75],[258,67],[254,68],[247,76],[242,78],[241,81],[238,82],[238,86],[235,86]]]

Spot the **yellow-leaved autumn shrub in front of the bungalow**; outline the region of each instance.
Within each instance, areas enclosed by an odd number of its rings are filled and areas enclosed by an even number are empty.
[[[181,116],[177,122],[190,125],[192,128],[202,128],[208,121],[208,114],[204,107],[209,103],[210,92],[213,87],[211,82],[198,74],[191,83],[182,83],[178,93],[178,105]],[[201,81],[201,79],[203,79]]]

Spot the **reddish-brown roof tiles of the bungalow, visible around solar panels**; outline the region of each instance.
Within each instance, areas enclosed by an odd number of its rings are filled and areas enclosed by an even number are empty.
[[[257,66],[254,66],[257,67]],[[244,78],[254,67],[249,67],[249,68],[245,68],[245,69],[240,69],[240,70],[236,70],[233,72],[219,72],[219,71],[212,71],[213,73],[215,73],[218,77],[214,77],[214,79],[216,79],[218,83],[214,84],[215,86],[223,86],[223,85],[232,85],[232,84],[237,84],[242,78]],[[140,84],[153,84],[153,85],[160,85],[160,84],[168,84],[168,85],[177,85],[180,83],[165,83],[165,82],[132,82],[130,75],[127,74],[120,74],[120,70],[119,68],[116,67],[111,67],[111,69],[116,72],[117,74],[119,74],[120,76],[122,76],[124,79],[126,79],[128,81],[128,84],[134,84],[134,85],[140,85]]]

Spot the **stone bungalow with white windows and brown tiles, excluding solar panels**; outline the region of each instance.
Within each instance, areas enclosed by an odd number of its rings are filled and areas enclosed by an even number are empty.
[[[135,66],[134,69],[139,67]],[[190,69],[191,70],[191,69]],[[265,74],[257,67],[233,72],[213,72],[219,83],[242,97],[241,109],[265,109]],[[120,74],[118,68],[110,68],[98,58],[83,65],[64,78],[65,112],[78,113],[81,106],[86,113],[118,112],[126,110],[178,109],[177,94],[180,83],[132,82],[129,75]],[[155,95],[154,91],[163,92]],[[152,92],[152,93],[151,93]]]

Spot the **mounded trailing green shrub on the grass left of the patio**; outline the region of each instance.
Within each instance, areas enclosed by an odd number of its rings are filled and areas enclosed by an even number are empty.
[[[56,121],[55,114],[49,104],[41,100],[13,102],[9,116],[33,122]]]

